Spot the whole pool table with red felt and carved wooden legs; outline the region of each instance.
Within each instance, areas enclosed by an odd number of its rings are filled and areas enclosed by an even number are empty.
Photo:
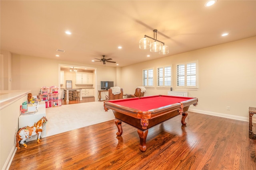
[[[104,102],[104,109],[112,109],[115,115],[115,123],[118,128],[117,136],[122,135],[122,122],[137,128],[140,137],[140,150],[145,152],[148,129],[162,123],[176,115],[182,114],[181,123],[186,125],[185,118],[188,115],[188,107],[196,106],[197,98],[176,96],[146,96],[110,100]]]

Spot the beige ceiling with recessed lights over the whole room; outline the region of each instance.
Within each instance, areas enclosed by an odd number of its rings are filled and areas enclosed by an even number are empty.
[[[106,55],[127,66],[256,35],[255,0],[218,0],[210,7],[205,3],[1,0],[0,46],[12,53],[82,65],[102,65],[91,61]],[[154,37],[153,29],[158,29],[157,39],[169,46],[168,55],[139,49],[144,35]],[[222,37],[225,32],[229,35]]]

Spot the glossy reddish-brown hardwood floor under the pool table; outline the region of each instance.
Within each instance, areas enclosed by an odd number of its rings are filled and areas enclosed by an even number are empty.
[[[134,127],[122,123],[117,137],[114,120],[31,141],[16,151],[10,170],[256,170],[248,122],[193,112],[186,126],[180,120],[149,129],[146,152]]]

